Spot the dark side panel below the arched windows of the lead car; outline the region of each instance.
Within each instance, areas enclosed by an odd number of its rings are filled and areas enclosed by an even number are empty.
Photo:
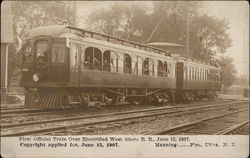
[[[100,71],[97,72],[88,70],[82,71],[80,76],[80,87],[89,87],[89,86],[175,89],[176,82],[175,78],[120,74],[120,73],[100,72]]]

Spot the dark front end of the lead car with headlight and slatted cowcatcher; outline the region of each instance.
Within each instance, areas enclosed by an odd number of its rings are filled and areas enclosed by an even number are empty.
[[[21,49],[20,82],[26,90],[26,107],[64,106],[63,89],[69,81],[69,48],[66,41],[66,38],[58,37],[56,32],[48,34],[46,28],[33,31],[32,36],[26,40]]]

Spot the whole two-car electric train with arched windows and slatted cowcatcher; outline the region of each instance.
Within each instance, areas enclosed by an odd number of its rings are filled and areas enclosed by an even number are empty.
[[[21,50],[27,107],[213,99],[221,87],[206,61],[74,27],[36,28]]]

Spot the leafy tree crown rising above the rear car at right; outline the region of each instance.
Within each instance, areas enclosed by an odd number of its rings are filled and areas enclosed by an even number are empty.
[[[227,34],[228,21],[216,17],[202,15],[194,20],[194,29],[200,38],[201,49],[194,52],[194,57],[210,60],[216,53],[225,53],[231,47],[231,39]]]

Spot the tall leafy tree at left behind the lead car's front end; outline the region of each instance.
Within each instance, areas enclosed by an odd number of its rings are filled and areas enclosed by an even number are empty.
[[[8,62],[8,83],[13,72],[21,67],[18,52],[29,32],[45,25],[73,25],[71,3],[65,1],[13,1],[13,31],[15,43],[10,45]]]

